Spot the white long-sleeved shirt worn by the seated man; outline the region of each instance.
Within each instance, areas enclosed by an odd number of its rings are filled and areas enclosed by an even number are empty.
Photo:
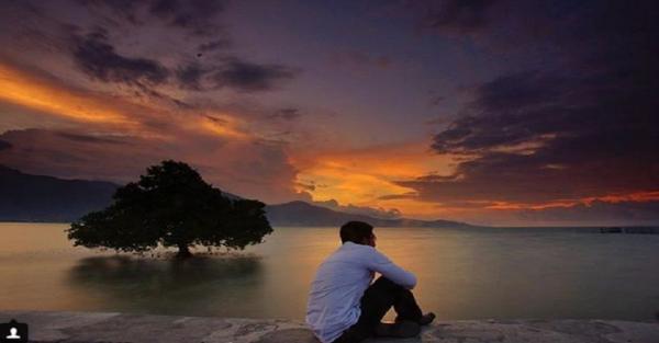
[[[321,264],[306,306],[306,323],[321,342],[333,342],[357,322],[376,272],[409,289],[416,285],[414,274],[370,245],[345,242]]]

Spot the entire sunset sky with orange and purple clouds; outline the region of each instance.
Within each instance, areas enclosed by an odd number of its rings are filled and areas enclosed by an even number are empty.
[[[0,1],[0,164],[379,217],[659,224],[657,1]]]

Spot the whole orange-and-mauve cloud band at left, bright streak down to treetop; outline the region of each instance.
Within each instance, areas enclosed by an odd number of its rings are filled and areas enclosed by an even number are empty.
[[[256,127],[253,115],[212,103],[182,108],[167,95],[102,88],[78,89],[0,61],[1,103],[65,124],[0,133],[12,146],[0,162],[24,172],[125,182],[149,164],[179,159],[230,192],[271,203],[299,197],[284,146],[261,139],[268,127]]]

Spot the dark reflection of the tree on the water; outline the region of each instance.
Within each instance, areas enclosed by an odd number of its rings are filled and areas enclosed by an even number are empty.
[[[245,302],[257,309],[263,287],[260,258],[153,260],[102,256],[79,260],[68,273],[70,286],[118,310],[177,315],[223,315]]]

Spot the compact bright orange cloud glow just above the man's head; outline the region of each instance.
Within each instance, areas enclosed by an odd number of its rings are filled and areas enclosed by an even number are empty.
[[[451,159],[434,155],[427,147],[428,144],[423,141],[298,155],[292,158],[299,170],[297,190],[309,192],[314,201],[335,199],[344,205],[394,207],[406,216],[429,217],[442,211],[435,203],[412,197],[382,198],[414,192],[395,184],[395,181],[451,172]]]

